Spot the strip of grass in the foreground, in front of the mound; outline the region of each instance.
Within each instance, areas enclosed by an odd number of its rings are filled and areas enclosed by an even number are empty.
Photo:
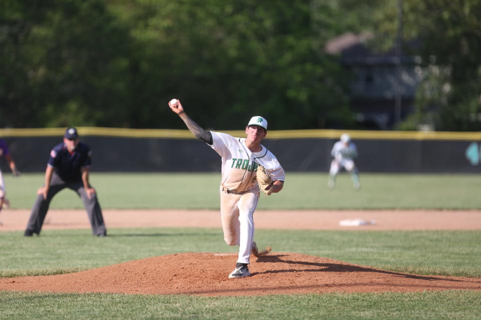
[[[2,319],[479,319],[481,292],[199,297],[0,291]]]

